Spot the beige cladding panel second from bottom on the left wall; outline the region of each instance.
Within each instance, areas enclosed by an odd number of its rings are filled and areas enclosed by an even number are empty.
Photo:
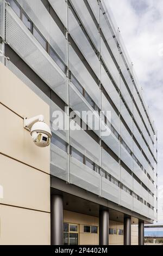
[[[50,211],[50,176],[0,154],[0,204]]]

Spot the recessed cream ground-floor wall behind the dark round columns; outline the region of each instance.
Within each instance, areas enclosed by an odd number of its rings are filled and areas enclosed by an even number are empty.
[[[97,217],[64,211],[64,222],[78,224],[79,245],[98,245],[99,234],[84,233],[84,225],[99,227]],[[109,220],[109,228],[123,229],[123,223]],[[123,235],[109,235],[109,245],[123,245]],[[131,245],[138,245],[138,227],[136,225],[131,225]]]

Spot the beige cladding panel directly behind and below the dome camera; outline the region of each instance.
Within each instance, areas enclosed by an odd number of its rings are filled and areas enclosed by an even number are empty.
[[[50,148],[37,147],[23,128],[23,119],[0,104],[0,152],[49,173]]]

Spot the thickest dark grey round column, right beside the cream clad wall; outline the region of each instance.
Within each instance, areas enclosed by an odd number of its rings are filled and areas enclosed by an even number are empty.
[[[64,243],[64,206],[61,195],[51,195],[51,245]]]

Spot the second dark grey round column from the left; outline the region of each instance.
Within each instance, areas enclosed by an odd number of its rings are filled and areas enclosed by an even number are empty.
[[[109,245],[109,211],[99,211],[99,245]]]

